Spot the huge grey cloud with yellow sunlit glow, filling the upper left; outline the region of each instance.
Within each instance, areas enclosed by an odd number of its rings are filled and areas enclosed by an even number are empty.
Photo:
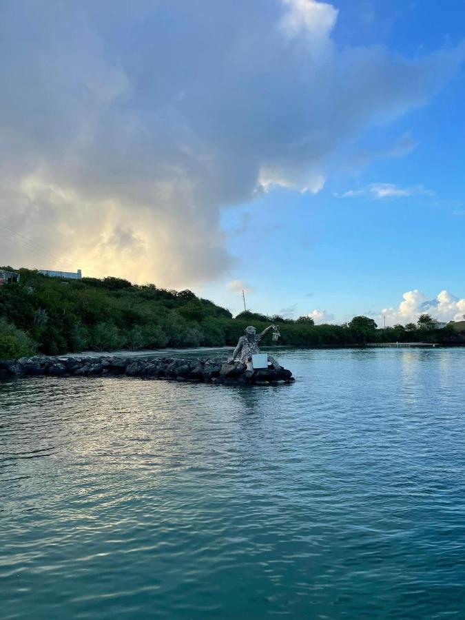
[[[464,59],[339,48],[336,18],[315,0],[3,1],[0,264],[168,286],[225,273],[222,207],[320,191]]]

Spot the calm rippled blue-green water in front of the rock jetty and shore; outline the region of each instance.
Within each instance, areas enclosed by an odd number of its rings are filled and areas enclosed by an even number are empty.
[[[465,618],[465,349],[0,384],[3,618]]]

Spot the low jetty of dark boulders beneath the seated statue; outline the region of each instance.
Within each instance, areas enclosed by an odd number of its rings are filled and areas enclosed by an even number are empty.
[[[147,379],[192,381],[227,385],[263,385],[294,381],[291,371],[281,368],[245,373],[245,364],[227,362],[227,358],[123,358],[60,355],[0,361],[0,380],[14,377],[50,375],[55,377],[126,376]]]

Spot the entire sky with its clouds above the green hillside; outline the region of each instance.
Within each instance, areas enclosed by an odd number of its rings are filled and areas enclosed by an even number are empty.
[[[465,314],[462,0],[0,8],[0,265]]]

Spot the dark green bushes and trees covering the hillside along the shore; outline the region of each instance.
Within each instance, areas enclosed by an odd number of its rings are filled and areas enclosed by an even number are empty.
[[[280,324],[280,344],[285,345],[340,347],[453,338],[451,330],[431,329],[430,324],[413,325],[411,331],[402,325],[376,329],[373,319],[364,316],[354,317],[347,326],[315,325],[309,317],[290,320],[250,311],[232,318],[228,310],[188,290],[137,286],[120,278],[61,280],[29,269],[19,272],[19,283],[0,287],[0,359],[35,351],[59,355],[86,349],[234,346],[247,325],[261,331],[271,322]]]

